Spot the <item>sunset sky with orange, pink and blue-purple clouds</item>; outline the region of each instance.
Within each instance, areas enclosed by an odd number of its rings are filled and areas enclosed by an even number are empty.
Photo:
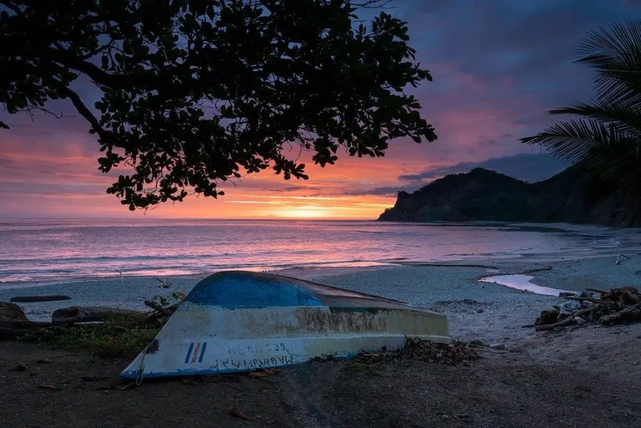
[[[408,22],[417,59],[432,73],[411,92],[437,141],[400,138],[384,158],[339,153],[335,165],[308,163],[309,180],[263,171],[221,187],[218,199],[130,213],[106,195],[112,177],[97,169],[98,143],[71,106],[56,104],[64,118],[33,121],[0,111],[11,126],[0,130],[0,218],[369,220],[399,190],[477,166],[528,182],[549,178],[567,165],[519,138],[555,123],[551,108],[589,101],[592,73],[573,63],[577,44],[598,26],[641,18],[641,0],[391,0],[387,11]]]

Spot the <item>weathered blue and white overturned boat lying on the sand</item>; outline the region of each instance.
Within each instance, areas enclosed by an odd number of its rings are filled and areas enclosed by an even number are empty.
[[[248,372],[361,350],[405,337],[449,342],[448,320],[404,302],[292,277],[218,272],[198,282],[126,379]]]

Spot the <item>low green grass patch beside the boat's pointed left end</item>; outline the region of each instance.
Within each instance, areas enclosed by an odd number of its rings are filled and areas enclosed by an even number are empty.
[[[21,340],[88,350],[96,357],[134,357],[156,337],[158,331],[160,329],[146,324],[146,315],[112,316],[102,324],[48,327]]]

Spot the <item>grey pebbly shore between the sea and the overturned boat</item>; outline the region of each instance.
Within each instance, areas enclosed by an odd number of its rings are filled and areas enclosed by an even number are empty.
[[[350,290],[390,297],[416,307],[442,312],[450,319],[450,333],[457,340],[500,341],[521,337],[515,325],[533,322],[541,310],[562,302],[558,297],[515,290],[484,277],[527,274],[534,285],[580,291],[586,287],[610,288],[635,285],[641,279],[639,251],[615,264],[620,249],[577,258],[574,255],[540,255],[537,258],[490,258],[373,267],[301,267],[268,271],[278,275],[322,282]],[[36,287],[0,289],[0,301],[19,295],[69,295],[71,300],[21,303],[33,320],[46,321],[51,313],[69,306],[115,306],[147,310],[143,300],[154,295],[188,292],[208,275],[164,277],[172,283],[161,288],[156,277],[132,276],[54,282]],[[465,303],[461,302],[474,302]],[[476,315],[474,315],[476,314]],[[478,320],[470,322],[470,317]],[[482,321],[481,323],[476,321]],[[487,326],[483,327],[483,323]],[[487,330],[487,331],[485,331]],[[508,334],[509,330],[509,334]]]

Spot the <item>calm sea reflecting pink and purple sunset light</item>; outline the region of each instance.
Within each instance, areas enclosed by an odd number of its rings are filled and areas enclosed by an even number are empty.
[[[618,244],[605,228],[579,233],[364,221],[0,220],[0,282],[393,265]]]

